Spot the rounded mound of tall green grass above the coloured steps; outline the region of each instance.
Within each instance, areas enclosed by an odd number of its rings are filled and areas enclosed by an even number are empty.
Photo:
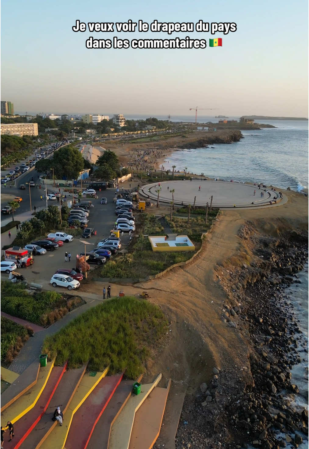
[[[134,379],[167,330],[162,311],[154,304],[131,296],[111,299],[83,313],[57,334],[47,337],[43,352],[57,355],[56,364],[69,359],[70,368],[88,368],[110,374],[123,372]]]

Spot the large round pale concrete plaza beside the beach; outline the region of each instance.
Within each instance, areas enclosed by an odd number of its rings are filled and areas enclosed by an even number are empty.
[[[160,184],[160,185],[159,185]],[[271,188],[262,187],[259,189],[257,185],[243,184],[239,182],[216,181],[216,180],[183,180],[183,181],[163,181],[143,186],[140,194],[146,196],[152,202],[156,202],[158,198],[157,190],[160,189],[159,202],[172,202],[172,189],[174,192],[174,202],[179,205],[181,203],[187,205],[205,206],[208,202],[210,205],[212,197],[213,207],[266,207],[270,206],[273,200],[273,206],[284,203],[285,198],[280,199],[278,189],[275,191]],[[256,193],[254,194],[254,191]],[[261,197],[263,192],[264,197]],[[276,198],[276,203],[274,202]]]

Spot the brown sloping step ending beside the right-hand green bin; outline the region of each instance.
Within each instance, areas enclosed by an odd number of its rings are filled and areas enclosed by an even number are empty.
[[[140,382],[141,378],[142,374],[136,381]],[[131,396],[134,382],[134,380],[122,380],[119,383],[119,386],[110,399],[110,402],[107,404],[104,413],[98,420],[96,427],[94,427],[93,434],[88,442],[89,448],[108,448],[111,427]]]

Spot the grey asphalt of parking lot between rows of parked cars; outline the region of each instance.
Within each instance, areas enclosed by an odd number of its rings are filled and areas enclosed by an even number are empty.
[[[32,267],[27,269],[18,270],[22,273],[27,282],[35,282],[38,284],[42,284],[44,288],[53,289],[51,285],[49,285],[50,279],[52,275],[58,269],[68,269],[75,268],[75,258],[76,255],[79,255],[84,251],[84,244],[79,240],[84,240],[87,243],[86,251],[89,252],[93,248],[97,246],[97,242],[99,242],[102,238],[107,238],[110,235],[110,230],[114,228],[115,220],[117,216],[115,215],[115,202],[113,202],[113,198],[115,196],[115,189],[106,189],[101,192],[97,192],[99,196],[98,199],[91,198],[91,201],[94,207],[89,208],[89,216],[88,216],[88,228],[93,228],[97,231],[97,235],[93,235],[91,238],[84,239],[81,237],[82,229],[80,229],[80,237],[75,237],[72,242],[64,243],[62,247],[59,247],[56,251],[47,251],[45,255],[35,255],[34,256],[34,264]],[[102,197],[107,198],[107,204],[100,204],[100,199]],[[49,203],[53,204],[53,201]],[[68,233],[70,233],[68,231]],[[129,234],[123,233],[120,235],[121,238],[121,250],[125,249],[128,241]],[[71,262],[65,262],[65,252],[71,252]],[[115,256],[111,256],[113,258]],[[116,255],[117,257],[117,255]],[[99,273],[104,268],[104,265],[97,266],[95,264],[90,264],[90,269],[95,269],[99,275]],[[1,279],[7,278],[8,275],[5,273],[1,273]],[[81,281],[82,287],[83,281]],[[56,291],[65,291],[65,289],[61,287],[56,287]]]

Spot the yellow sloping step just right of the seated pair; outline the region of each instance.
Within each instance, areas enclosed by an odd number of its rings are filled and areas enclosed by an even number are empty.
[[[95,377],[89,376],[89,373],[84,374],[79,386],[63,415],[63,425],[57,425],[49,437],[40,446],[40,449],[63,449],[66,443],[66,438],[68,436],[71,422],[75,412],[87,399],[89,394],[97,386],[103,377],[106,376],[109,367],[107,367],[102,373],[98,372]],[[82,428],[82,423],[81,423]]]

